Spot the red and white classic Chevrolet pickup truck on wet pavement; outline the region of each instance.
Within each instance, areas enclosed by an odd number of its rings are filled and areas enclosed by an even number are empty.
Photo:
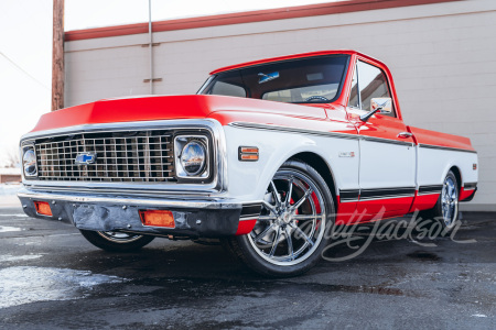
[[[312,267],[336,223],[423,210],[449,231],[477,185],[470,140],[406,125],[387,66],[354,51],[224,67],[197,95],[47,113],[20,147],[26,215],[109,251],[220,238],[274,276]]]

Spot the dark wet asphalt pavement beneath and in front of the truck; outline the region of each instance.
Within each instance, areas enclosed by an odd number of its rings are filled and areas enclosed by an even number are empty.
[[[355,258],[267,279],[220,246],[157,239],[107,253],[71,226],[0,208],[0,328],[495,329],[496,215],[463,223],[459,242],[376,240]]]

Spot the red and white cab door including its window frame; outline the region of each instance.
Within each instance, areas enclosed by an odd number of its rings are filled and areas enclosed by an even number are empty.
[[[412,135],[398,118],[390,84],[382,69],[357,61],[348,113],[360,135],[359,198],[362,221],[408,212],[416,194],[416,148]],[[390,113],[377,112],[366,122],[373,98],[391,98]]]

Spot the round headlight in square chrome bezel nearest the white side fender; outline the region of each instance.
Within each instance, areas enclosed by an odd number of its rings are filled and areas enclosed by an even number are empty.
[[[176,136],[174,148],[175,172],[179,178],[208,177],[208,139],[206,136]]]

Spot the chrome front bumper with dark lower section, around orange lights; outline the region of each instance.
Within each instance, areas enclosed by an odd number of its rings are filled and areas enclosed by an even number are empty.
[[[33,218],[73,223],[78,229],[122,231],[150,235],[218,238],[251,231],[260,215],[260,202],[225,198],[140,198],[87,194],[54,194],[22,189],[18,194],[24,212]],[[37,213],[34,202],[50,204],[52,217]],[[175,228],[143,226],[139,211],[169,210]]]

